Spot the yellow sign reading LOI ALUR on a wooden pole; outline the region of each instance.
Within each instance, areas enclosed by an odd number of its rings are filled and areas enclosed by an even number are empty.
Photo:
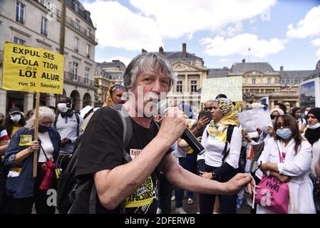
[[[2,88],[63,93],[64,57],[53,51],[17,43],[4,44]]]

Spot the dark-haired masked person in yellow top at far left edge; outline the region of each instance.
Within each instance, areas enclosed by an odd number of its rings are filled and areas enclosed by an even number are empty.
[[[26,125],[26,119],[20,108],[10,108],[9,115],[7,115],[6,120],[4,120],[4,128],[6,129],[9,138],[12,138],[14,133],[16,133],[19,128],[24,127],[24,125]]]

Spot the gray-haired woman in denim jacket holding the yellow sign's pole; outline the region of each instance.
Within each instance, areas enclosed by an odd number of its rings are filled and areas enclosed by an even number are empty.
[[[35,115],[26,126],[16,131],[6,150],[4,162],[9,167],[6,179],[5,212],[10,214],[31,214],[33,203],[37,214],[54,214],[55,207],[47,204],[48,189],[56,190],[56,172],[54,162],[58,157],[61,138],[52,128],[55,115],[50,108],[40,107],[38,115],[38,141],[34,140]],[[38,152],[37,175],[33,177],[33,154]],[[47,172],[51,185],[43,187]]]

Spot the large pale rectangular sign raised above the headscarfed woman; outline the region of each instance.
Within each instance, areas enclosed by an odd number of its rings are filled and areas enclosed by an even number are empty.
[[[242,76],[204,79],[200,102],[214,100],[220,93],[227,95],[232,101],[242,101]]]

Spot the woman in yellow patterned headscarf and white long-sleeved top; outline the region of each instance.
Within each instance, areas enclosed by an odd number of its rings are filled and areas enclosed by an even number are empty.
[[[212,107],[212,120],[205,128],[201,141],[205,152],[198,155],[197,161],[202,177],[227,182],[237,174],[239,167],[242,136],[238,128],[238,113],[232,101],[227,98],[217,98]],[[230,125],[234,125],[234,128],[231,140],[227,142]],[[227,152],[227,157],[224,157],[224,152]],[[212,213],[215,197],[200,194],[201,214]],[[237,195],[219,195],[219,198],[222,214],[236,213]]]

